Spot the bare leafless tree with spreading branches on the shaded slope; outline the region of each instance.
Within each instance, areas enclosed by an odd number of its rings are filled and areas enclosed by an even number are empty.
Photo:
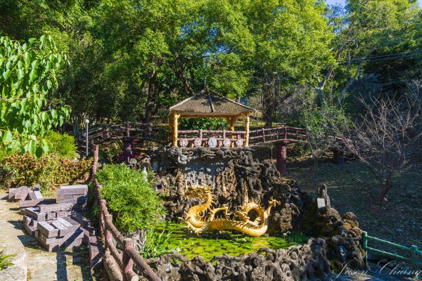
[[[371,170],[380,186],[378,204],[393,188],[395,178],[407,171],[412,157],[420,149],[421,101],[420,96],[403,98],[369,98],[361,103],[366,113],[357,119],[345,133],[347,150]]]

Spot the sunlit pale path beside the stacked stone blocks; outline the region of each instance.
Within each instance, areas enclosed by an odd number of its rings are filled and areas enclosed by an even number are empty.
[[[44,250],[37,238],[26,235],[18,203],[6,200],[7,195],[0,194],[0,249],[5,249],[8,254],[18,254],[14,258],[16,265],[25,267],[26,263],[27,280],[92,280],[89,266],[84,263],[84,249],[80,252],[72,249],[58,252]]]

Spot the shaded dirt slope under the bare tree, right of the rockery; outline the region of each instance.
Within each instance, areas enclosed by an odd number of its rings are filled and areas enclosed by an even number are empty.
[[[275,149],[263,147],[254,155],[275,163]],[[289,151],[288,155],[293,155]],[[300,188],[316,195],[312,181],[313,162],[309,158],[288,159],[286,177],[299,182]],[[356,214],[359,226],[368,235],[402,244],[417,245],[422,249],[422,164],[396,178],[397,185],[388,192],[385,202],[376,204],[380,188],[371,171],[356,159],[347,159],[343,166],[331,163],[329,155],[321,161],[316,172],[318,184],[325,183],[331,205],[340,215],[351,211]],[[371,246],[371,244],[369,244]]]

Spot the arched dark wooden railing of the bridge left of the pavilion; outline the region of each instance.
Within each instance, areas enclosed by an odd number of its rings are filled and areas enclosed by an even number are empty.
[[[91,144],[119,141],[122,139],[155,141],[154,136],[160,131],[158,127],[151,124],[137,122],[120,122],[95,126],[88,131],[88,141]],[[86,141],[87,134],[81,133],[78,140]]]

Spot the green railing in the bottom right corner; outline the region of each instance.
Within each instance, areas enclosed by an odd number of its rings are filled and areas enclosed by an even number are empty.
[[[379,249],[374,249],[372,247],[368,247],[368,241],[375,241],[380,244],[384,244],[386,246],[390,246],[392,248],[400,249],[407,253],[406,256],[402,256],[399,254],[390,253],[389,251],[382,251]],[[402,261],[407,261],[408,263],[411,263],[412,266],[422,266],[422,251],[418,249],[417,246],[412,245],[411,247],[402,246],[399,244],[395,244],[392,242],[389,242],[387,240],[382,240],[377,237],[369,236],[366,231],[362,232],[362,247],[365,251],[365,259],[368,259],[368,252],[374,253],[374,254],[380,254],[381,256],[389,256],[393,259],[399,259]]]

